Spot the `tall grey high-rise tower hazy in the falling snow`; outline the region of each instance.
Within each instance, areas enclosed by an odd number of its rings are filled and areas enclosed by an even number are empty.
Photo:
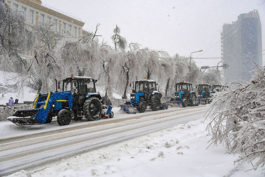
[[[251,71],[256,68],[251,60],[262,66],[262,52],[257,52],[262,50],[259,13],[251,11],[240,14],[237,21],[224,24],[221,39],[223,63],[229,65],[228,69],[224,69],[224,81],[250,81]]]

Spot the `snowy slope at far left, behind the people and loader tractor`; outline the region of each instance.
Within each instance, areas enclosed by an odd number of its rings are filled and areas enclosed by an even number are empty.
[[[37,92],[33,91],[27,85],[24,85],[22,93],[19,93],[19,74],[14,72],[3,72],[0,71],[0,104],[8,103],[10,97],[19,100],[19,103],[24,101],[34,101]]]

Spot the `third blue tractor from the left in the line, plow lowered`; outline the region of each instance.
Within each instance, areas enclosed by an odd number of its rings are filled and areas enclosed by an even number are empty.
[[[182,82],[175,84],[174,98],[166,103],[170,106],[198,106],[196,93],[192,89],[190,82]]]

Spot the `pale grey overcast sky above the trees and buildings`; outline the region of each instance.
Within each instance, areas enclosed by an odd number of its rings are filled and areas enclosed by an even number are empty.
[[[232,23],[237,16],[256,9],[264,0],[42,0],[43,3],[81,18],[84,28],[95,31],[100,23],[99,40],[112,45],[113,29],[121,28],[127,41],[142,47],[165,50],[170,55],[189,56],[205,52],[220,40],[223,23]],[[265,3],[258,9],[262,25],[262,46],[265,46]],[[193,57],[220,57],[220,41],[211,49]],[[263,52],[265,53],[265,52]],[[264,62],[263,57],[263,62]],[[216,66],[220,60],[195,59],[198,66]],[[263,63],[265,64],[265,63]]]

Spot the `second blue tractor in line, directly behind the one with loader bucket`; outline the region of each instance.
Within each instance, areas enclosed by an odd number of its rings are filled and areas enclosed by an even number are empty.
[[[149,106],[153,111],[167,109],[167,105],[161,102],[162,94],[157,91],[156,81],[154,80],[137,80],[133,83],[133,93],[130,94],[131,100],[120,104],[120,107],[126,113],[135,113],[134,108],[143,113]],[[132,84],[130,83],[130,87]]]

